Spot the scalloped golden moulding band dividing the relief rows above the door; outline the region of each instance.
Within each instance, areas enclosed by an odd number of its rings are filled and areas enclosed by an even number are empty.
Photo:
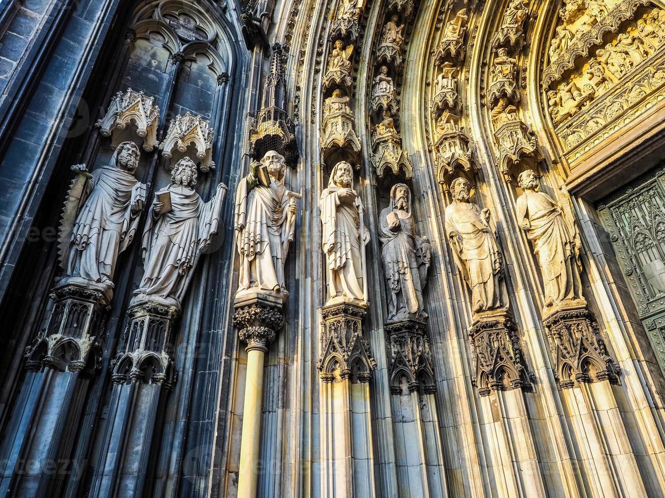
[[[550,84],[561,78],[564,72],[575,67],[575,59],[579,57],[586,57],[589,55],[589,50],[595,45],[603,42],[602,38],[607,33],[615,33],[619,29],[619,25],[634,15],[638,7],[650,5],[649,0],[622,0],[614,6],[614,9],[604,16],[599,23],[596,23],[574,41],[569,48],[557,57],[554,62],[551,62],[543,72],[543,88],[547,88]]]

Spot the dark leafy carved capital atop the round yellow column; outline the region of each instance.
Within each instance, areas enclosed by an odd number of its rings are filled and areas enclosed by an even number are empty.
[[[247,343],[246,351],[258,349],[265,353],[268,344],[284,327],[284,317],[281,309],[257,302],[237,307],[233,325],[238,329],[240,340]]]

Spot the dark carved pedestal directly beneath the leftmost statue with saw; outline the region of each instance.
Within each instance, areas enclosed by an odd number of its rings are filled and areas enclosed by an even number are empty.
[[[65,285],[55,288],[51,299],[49,325],[26,349],[25,368],[39,372],[47,367],[92,376],[101,363],[97,336],[108,309],[104,293]]]

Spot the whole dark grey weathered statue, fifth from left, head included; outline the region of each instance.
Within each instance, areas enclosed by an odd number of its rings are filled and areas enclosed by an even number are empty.
[[[431,245],[416,233],[411,191],[404,183],[390,190],[390,206],[381,211],[381,259],[390,291],[388,323],[426,318],[422,290],[430,268]]]

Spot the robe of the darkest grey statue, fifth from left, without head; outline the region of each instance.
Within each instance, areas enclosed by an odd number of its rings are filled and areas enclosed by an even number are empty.
[[[395,228],[388,225],[390,216],[398,219],[399,225]],[[388,301],[388,321],[424,315],[422,289],[425,286],[426,266],[414,224],[414,218],[408,211],[388,207],[381,212],[381,258],[392,293],[392,299]]]

